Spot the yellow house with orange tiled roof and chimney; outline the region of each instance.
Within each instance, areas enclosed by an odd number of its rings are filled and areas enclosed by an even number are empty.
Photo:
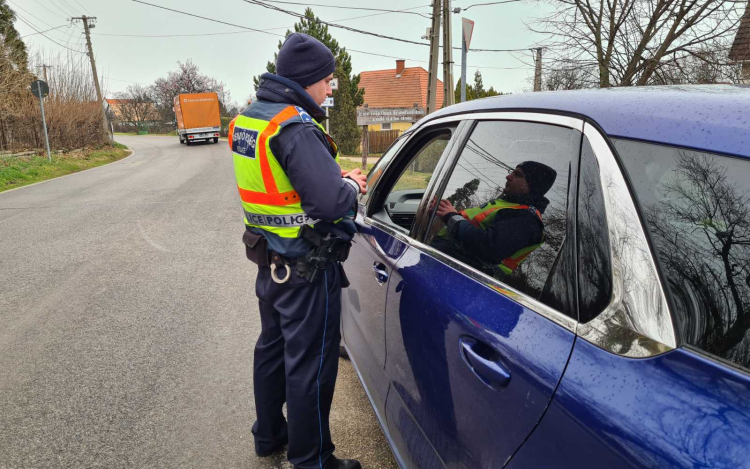
[[[360,73],[359,87],[365,90],[363,107],[382,110],[382,122],[368,125],[368,130],[398,130],[403,132],[419,117],[410,109],[427,107],[429,74],[422,67],[406,68],[406,61],[396,60],[396,68]],[[436,109],[443,107],[443,82],[438,80]],[[360,108],[362,109],[362,108]],[[393,117],[389,118],[388,115]]]

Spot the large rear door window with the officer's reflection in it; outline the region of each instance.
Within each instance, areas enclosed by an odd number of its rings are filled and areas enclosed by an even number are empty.
[[[565,239],[580,138],[551,125],[478,123],[436,204],[427,243],[540,298]]]

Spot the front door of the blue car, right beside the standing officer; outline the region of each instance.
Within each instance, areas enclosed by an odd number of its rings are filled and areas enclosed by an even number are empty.
[[[369,194],[360,198],[342,293],[344,343],[381,422],[389,380],[385,375],[385,299],[388,278],[403,254],[416,210],[456,125],[440,126],[418,138],[404,135],[368,175]],[[394,159],[396,161],[394,161]],[[412,161],[409,167],[405,160]],[[387,193],[380,179],[392,180]],[[389,184],[385,181],[386,185]],[[368,213],[369,210],[369,213]],[[372,215],[372,218],[369,216]],[[373,223],[377,220],[376,223]],[[383,228],[385,227],[385,229]]]

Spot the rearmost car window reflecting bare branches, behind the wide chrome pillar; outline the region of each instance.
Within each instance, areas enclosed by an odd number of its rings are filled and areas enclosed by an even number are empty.
[[[750,368],[750,161],[616,140],[685,343]]]

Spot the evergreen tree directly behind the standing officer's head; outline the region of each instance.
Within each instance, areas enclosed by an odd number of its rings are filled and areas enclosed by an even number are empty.
[[[359,88],[359,75],[352,74],[352,58],[328,32],[328,25],[320,22],[312,8],[305,10],[305,18],[294,24],[294,31],[314,37],[326,45],[336,58],[334,76],[339,79],[339,89],[333,92],[335,107],[329,110],[331,116],[331,136],[336,139],[342,153],[354,153],[359,146],[359,129],[357,127],[357,107],[365,102],[365,90]],[[287,31],[286,35],[291,34]],[[283,45],[279,41],[279,49]],[[266,64],[266,71],[276,73],[278,52],[273,54],[273,62]],[[260,86],[260,77],[253,77],[255,90]]]

